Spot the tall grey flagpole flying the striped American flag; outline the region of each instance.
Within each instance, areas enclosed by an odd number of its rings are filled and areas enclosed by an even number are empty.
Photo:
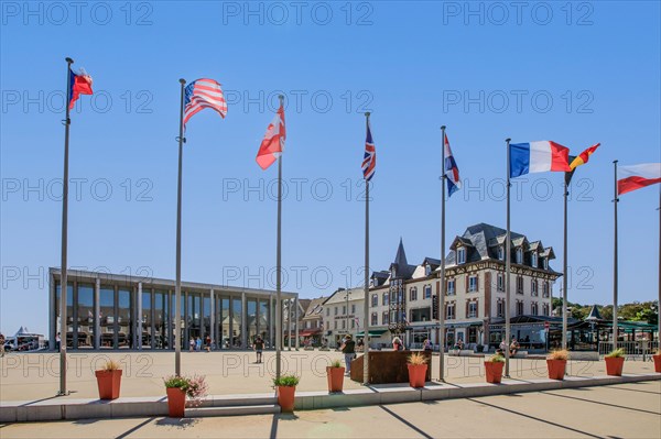
[[[174,373],[182,373],[182,161],[184,155],[184,88],[185,79],[180,79],[180,135],[178,149],[178,177],[176,186],[176,282],[174,287]]]

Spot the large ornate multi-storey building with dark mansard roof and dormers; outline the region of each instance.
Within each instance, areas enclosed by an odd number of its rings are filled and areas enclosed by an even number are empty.
[[[456,237],[445,264],[446,342],[497,345],[505,322],[506,230],[479,223]],[[545,343],[544,317],[551,314],[552,286],[561,273],[549,263],[552,248],[511,232],[511,317],[534,316],[537,325],[512,328],[512,334],[531,347]],[[370,287],[370,332],[388,330],[388,337],[404,336],[416,347],[429,338],[438,342],[438,320],[434,312],[441,290],[440,264],[425,257],[418,265],[407,261],[400,240],[388,271],[375,272]],[[550,319],[550,318],[549,318]]]

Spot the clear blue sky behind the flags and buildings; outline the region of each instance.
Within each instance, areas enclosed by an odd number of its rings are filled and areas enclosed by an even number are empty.
[[[410,263],[438,257],[440,125],[465,179],[447,204],[448,243],[473,223],[505,227],[506,138],[574,153],[600,142],[574,176],[568,293],[611,303],[611,162],[661,160],[658,2],[76,4],[2,3],[3,333],[47,328],[66,56],[96,92],[72,116],[71,267],[174,278],[177,80],[210,77],[229,110],[188,123],[184,279],[272,287],[277,169],[254,155],[281,90],[285,289],[313,297],[360,284],[370,110],[372,268],[387,268],[400,237]],[[562,175],[517,185],[512,230],[554,246],[562,271]],[[621,198],[620,303],[657,297],[658,205],[659,186]]]

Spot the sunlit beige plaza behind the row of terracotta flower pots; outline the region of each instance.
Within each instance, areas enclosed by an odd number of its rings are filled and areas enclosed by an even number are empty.
[[[301,376],[302,392],[325,391],[326,365],[342,359],[335,351],[284,351],[283,372]],[[113,359],[123,370],[121,396],[165,395],[163,377],[174,373],[173,352],[84,352],[68,355],[66,398],[97,398],[94,371],[104,361]],[[0,359],[2,402],[39,400],[53,397],[59,388],[59,356],[57,353],[12,353]],[[262,364],[254,363],[254,353],[236,352],[183,352],[184,374],[206,375],[212,395],[263,394],[273,392],[271,378],[275,371],[275,353],[266,352]],[[649,359],[651,360],[651,359]],[[445,356],[445,380],[449,383],[484,383],[483,358]],[[546,363],[539,359],[512,359],[510,376],[513,380],[546,377]],[[590,377],[605,375],[604,361],[570,361],[567,373],[573,376]],[[625,373],[653,374],[651,361],[629,360]],[[432,377],[438,377],[438,356],[432,360]],[[345,389],[358,389],[359,383],[345,380]]]

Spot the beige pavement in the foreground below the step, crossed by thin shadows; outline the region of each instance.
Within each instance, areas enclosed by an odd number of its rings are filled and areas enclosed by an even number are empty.
[[[0,425],[10,438],[659,438],[661,382],[296,411]]]

